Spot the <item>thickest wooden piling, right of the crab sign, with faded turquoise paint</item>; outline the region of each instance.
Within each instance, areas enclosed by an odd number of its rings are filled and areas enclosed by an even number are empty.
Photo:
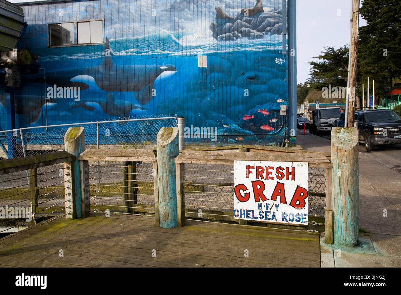
[[[358,131],[333,127],[331,131],[333,240],[339,246],[359,244]]]

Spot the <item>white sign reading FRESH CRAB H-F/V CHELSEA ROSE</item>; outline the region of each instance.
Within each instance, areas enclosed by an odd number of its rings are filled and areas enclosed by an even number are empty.
[[[234,216],[308,225],[308,163],[234,161]]]

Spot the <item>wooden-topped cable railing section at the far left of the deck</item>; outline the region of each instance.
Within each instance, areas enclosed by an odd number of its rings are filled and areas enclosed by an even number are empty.
[[[71,167],[65,151],[0,161],[0,233],[72,215]]]

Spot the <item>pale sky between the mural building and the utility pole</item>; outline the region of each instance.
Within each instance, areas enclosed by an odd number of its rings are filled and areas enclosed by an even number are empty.
[[[339,48],[349,44],[351,1],[297,0],[297,83],[303,84],[308,79],[308,62],[316,60],[313,57],[319,55],[325,46]],[[359,26],[365,24],[360,17]]]

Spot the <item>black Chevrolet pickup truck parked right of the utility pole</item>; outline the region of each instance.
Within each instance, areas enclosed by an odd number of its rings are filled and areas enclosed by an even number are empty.
[[[344,126],[345,113],[333,123]],[[393,110],[356,111],[355,122],[358,121],[359,140],[365,143],[366,151],[375,146],[401,144],[401,118]]]

